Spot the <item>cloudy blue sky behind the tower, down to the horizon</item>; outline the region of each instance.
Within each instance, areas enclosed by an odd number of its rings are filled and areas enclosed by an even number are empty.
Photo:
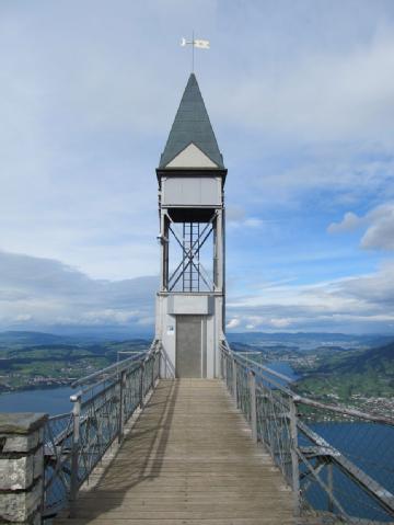
[[[153,330],[193,30],[228,330],[394,333],[392,0],[2,0],[0,330]]]

